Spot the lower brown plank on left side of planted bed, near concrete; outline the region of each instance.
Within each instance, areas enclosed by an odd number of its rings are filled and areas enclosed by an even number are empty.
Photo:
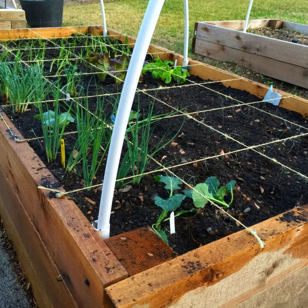
[[[4,155],[2,151],[3,148],[0,155]],[[6,232],[13,241],[18,260],[31,282],[37,303],[41,308],[77,308],[66,283],[57,281],[59,270],[1,167],[0,186],[1,217]]]

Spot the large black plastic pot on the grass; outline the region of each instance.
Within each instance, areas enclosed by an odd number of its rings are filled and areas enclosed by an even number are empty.
[[[32,28],[61,27],[63,0],[19,0]]]

